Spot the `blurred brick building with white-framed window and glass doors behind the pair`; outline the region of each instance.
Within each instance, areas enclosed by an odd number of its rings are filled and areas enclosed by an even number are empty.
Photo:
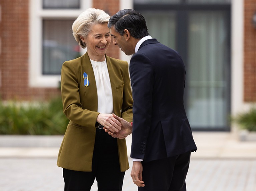
[[[231,131],[229,116],[256,102],[256,0],[0,0],[1,100],[60,94],[62,63],[85,53],[71,26],[89,7],[135,9],[180,52],[192,130]],[[112,44],[107,54],[130,61]]]

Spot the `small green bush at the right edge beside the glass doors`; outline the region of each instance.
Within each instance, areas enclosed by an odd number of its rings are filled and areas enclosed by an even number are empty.
[[[239,124],[242,129],[256,131],[256,107],[251,108],[246,113],[237,115],[232,120]]]

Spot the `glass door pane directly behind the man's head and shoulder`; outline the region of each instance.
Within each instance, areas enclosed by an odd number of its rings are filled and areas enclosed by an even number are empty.
[[[175,49],[176,14],[172,11],[140,11],[144,16],[149,34],[160,43]]]

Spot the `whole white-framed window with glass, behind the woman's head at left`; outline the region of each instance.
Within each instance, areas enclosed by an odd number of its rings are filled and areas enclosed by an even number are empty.
[[[92,0],[30,3],[30,86],[58,87],[63,62],[84,52],[72,35],[72,24],[83,10],[91,7]]]

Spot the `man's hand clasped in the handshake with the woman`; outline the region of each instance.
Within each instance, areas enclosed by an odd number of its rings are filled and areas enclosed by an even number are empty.
[[[131,123],[127,122],[123,118],[116,116],[115,114],[112,114],[112,116],[120,122],[121,130],[113,133],[113,132],[110,132],[107,128],[104,128],[105,132],[108,132],[108,135],[111,135],[113,138],[124,139],[132,133],[133,126]]]

